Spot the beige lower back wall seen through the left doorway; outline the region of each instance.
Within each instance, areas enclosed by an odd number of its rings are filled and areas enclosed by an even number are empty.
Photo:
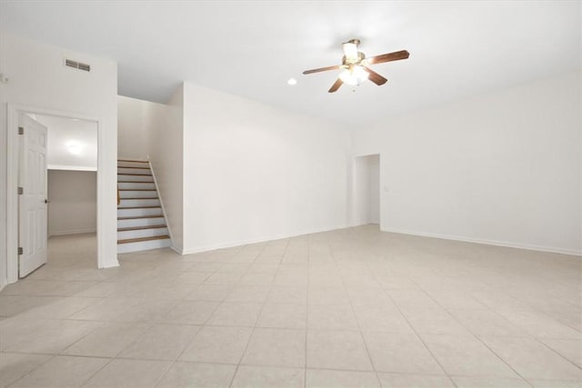
[[[48,235],[95,232],[97,174],[48,171]]]

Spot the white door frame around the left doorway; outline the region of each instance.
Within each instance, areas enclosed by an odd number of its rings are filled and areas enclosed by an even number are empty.
[[[108,199],[103,193],[105,184],[104,149],[105,139],[101,134],[104,128],[103,118],[90,114],[65,112],[55,109],[45,109],[34,106],[7,104],[7,134],[6,134],[6,280],[15,283],[18,280],[18,117],[19,114],[45,114],[64,118],[77,118],[97,124],[97,263],[95,268],[103,268],[111,260],[105,258],[105,222],[100,209],[105,208]],[[50,130],[50,129],[49,129]],[[109,195],[111,196],[111,195]]]

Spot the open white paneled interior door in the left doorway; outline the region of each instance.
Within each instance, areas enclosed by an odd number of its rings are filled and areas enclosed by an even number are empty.
[[[46,127],[20,114],[18,275],[24,277],[46,263]]]

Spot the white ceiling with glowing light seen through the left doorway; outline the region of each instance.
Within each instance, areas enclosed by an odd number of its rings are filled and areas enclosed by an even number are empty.
[[[46,164],[50,170],[97,171],[97,124],[45,114],[31,114],[47,130]]]

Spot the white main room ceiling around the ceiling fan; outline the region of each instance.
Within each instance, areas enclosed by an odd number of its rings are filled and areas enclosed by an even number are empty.
[[[3,1],[17,35],[114,59],[119,94],[166,102],[183,80],[296,112],[367,123],[580,66],[580,2]],[[368,56],[384,86],[327,89],[341,43]],[[296,86],[286,85],[295,77]]]

